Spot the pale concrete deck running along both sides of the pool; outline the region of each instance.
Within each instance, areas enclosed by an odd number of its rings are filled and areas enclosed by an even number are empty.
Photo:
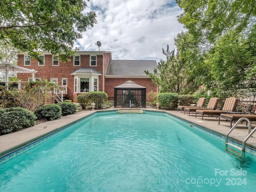
[[[109,111],[109,110],[118,110],[118,109],[120,108],[112,107],[104,110],[84,110],[76,114],[64,116],[57,120],[44,122],[29,128],[19,130],[17,132],[2,135],[0,136],[0,156],[3,156],[4,154],[7,154],[12,150],[20,148],[21,146],[24,146],[34,140],[37,140],[38,138],[46,136],[47,134],[54,132],[63,126],[72,124],[73,122],[81,118],[84,118],[85,116],[88,116],[90,114],[93,114],[97,111]],[[195,114],[190,114],[190,116],[188,116],[187,114],[184,114],[184,112],[180,113],[180,111],[177,112],[177,111],[171,111],[171,110],[157,110],[155,108],[150,108],[150,107],[141,108],[141,109],[158,111],[158,112],[166,112],[178,118],[186,120],[192,124],[196,124],[208,130],[211,130],[212,132],[216,132],[222,136],[226,136],[227,132],[230,130],[230,121],[221,120],[220,125],[218,125],[218,119],[216,119],[216,117],[204,116],[204,120],[202,120],[201,116],[198,116],[197,118],[195,118]],[[255,124],[252,124],[251,129],[253,129],[255,126],[256,126]],[[229,138],[232,138],[233,140],[236,140],[242,143],[242,141],[244,140],[244,138],[246,138],[247,135],[248,135],[248,126],[240,123],[231,132]],[[256,149],[256,133],[252,135],[251,138],[249,138],[249,140],[246,142],[246,145]]]

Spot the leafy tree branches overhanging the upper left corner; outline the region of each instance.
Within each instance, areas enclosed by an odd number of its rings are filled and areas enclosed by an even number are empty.
[[[83,11],[84,0],[1,0],[0,40],[39,58],[34,50],[60,54],[61,60],[74,55],[74,41],[96,24],[95,12]]]

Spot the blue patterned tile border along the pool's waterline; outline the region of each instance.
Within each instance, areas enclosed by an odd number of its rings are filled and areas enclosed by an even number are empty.
[[[30,150],[31,148],[34,148],[38,144],[41,144],[42,142],[44,142],[44,141],[46,141],[46,140],[48,140],[48,139],[50,139],[50,138],[52,138],[52,137],[54,137],[54,136],[56,136],[56,135],[58,135],[60,133],[66,131],[66,130],[74,127],[74,126],[76,126],[77,124],[79,124],[82,121],[86,121],[89,118],[92,118],[93,116],[100,115],[100,114],[115,114],[115,113],[116,113],[116,110],[110,110],[110,111],[96,112],[96,113],[90,114],[88,116],[85,116],[84,118],[82,118],[80,120],[77,120],[76,122],[73,122],[72,124],[70,124],[68,126],[64,126],[63,128],[60,128],[59,130],[56,130],[53,133],[50,133],[50,134],[48,134],[48,135],[46,135],[46,136],[44,136],[44,137],[42,137],[42,138],[40,138],[38,140],[35,140],[35,141],[33,141],[33,142],[29,143],[29,144],[26,144],[25,146],[22,146],[22,147],[14,150],[12,152],[4,154],[3,156],[0,157],[0,164],[2,164],[4,162],[6,162],[6,161],[8,161],[8,160],[18,156],[19,154],[22,154],[25,151]],[[167,116],[170,116],[171,118],[174,118],[174,119],[176,119],[176,120],[178,120],[178,121],[180,121],[182,123],[185,123],[185,124],[187,124],[189,126],[192,125],[192,127],[196,128],[197,130],[200,130],[200,131],[202,131],[202,132],[204,132],[206,134],[209,134],[209,135],[211,135],[211,136],[213,136],[215,138],[218,138],[218,139],[220,139],[222,141],[225,141],[225,137],[224,136],[222,136],[220,134],[217,134],[217,133],[214,133],[214,132],[211,132],[210,130],[206,130],[205,128],[202,128],[201,126],[198,126],[196,124],[193,124],[191,122],[188,122],[186,120],[178,118],[178,117],[176,117],[176,116],[174,116],[172,114],[169,114],[169,113],[166,113],[166,112],[160,112],[160,111],[159,112],[155,112],[155,111],[150,111],[150,110],[146,110],[145,113],[150,113],[150,114],[166,114]],[[238,143],[238,142],[236,142],[234,140],[230,140],[229,139],[228,142],[230,142],[231,144],[234,144],[234,145],[242,148],[242,144],[240,144],[240,143]],[[250,148],[248,146],[246,146],[246,152],[249,152],[250,154],[256,155],[256,150],[253,149],[253,148]]]

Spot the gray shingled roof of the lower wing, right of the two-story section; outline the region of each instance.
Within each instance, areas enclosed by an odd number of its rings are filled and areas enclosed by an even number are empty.
[[[156,60],[110,60],[106,75],[147,76],[144,70],[153,73]]]

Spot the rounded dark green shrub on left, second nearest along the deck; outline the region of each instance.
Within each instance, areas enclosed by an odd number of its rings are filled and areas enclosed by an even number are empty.
[[[44,105],[35,111],[35,115],[40,120],[55,120],[61,117],[61,107],[56,104]]]

